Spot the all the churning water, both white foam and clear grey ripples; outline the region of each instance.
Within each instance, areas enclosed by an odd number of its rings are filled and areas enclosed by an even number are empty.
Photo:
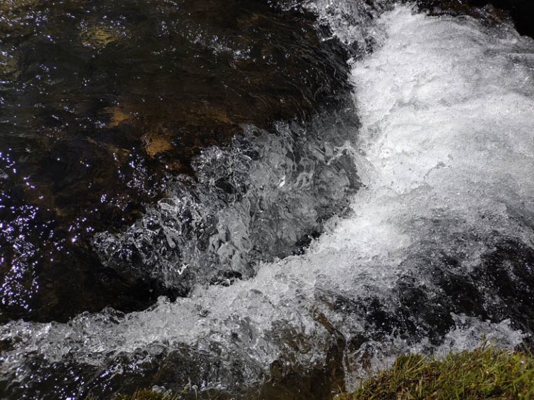
[[[3,397],[325,398],[402,352],[528,341],[534,41],[409,5],[309,7],[351,48],[352,103],[275,136],[244,126],[202,152],[194,190],[171,182],[127,230],[98,234],[104,262],[186,297],[4,324]]]

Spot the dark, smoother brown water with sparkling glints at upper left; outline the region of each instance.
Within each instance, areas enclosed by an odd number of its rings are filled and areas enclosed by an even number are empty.
[[[118,231],[202,148],[348,90],[314,17],[267,1],[0,4],[1,319],[128,312],[168,294],[105,268]]]

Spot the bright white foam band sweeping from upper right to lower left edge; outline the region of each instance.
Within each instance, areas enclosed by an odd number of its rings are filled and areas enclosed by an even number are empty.
[[[362,119],[353,153],[366,184],[353,200],[353,216],[331,221],[305,255],[262,264],[254,278],[231,287],[197,287],[190,298],[162,299],[124,317],[103,312],[67,324],[8,323],[0,337],[16,344],[2,354],[1,373],[29,378],[32,353],[49,362],[105,365],[136,349],[148,349],[149,357],[182,344],[207,350],[214,342],[223,365],[246,360],[267,370],[280,358],[321,365],[331,327],[346,339],[366,335],[375,365],[401,351],[472,348],[483,334],[503,346],[521,342],[508,321],[463,316],[454,317],[440,345],[424,335],[386,335],[355,306],[378,298],[394,313],[396,285],[407,277],[430,302],[444,296],[432,264],[419,257],[453,255],[460,261],[451,268],[467,275],[492,250],[488,238],[533,246],[524,223],[534,215],[533,40],[472,19],[414,15],[406,6],[382,15],[378,26],[382,47],[353,65]],[[483,291],[493,301],[492,288]],[[373,336],[373,329],[382,333]],[[300,341],[298,349],[288,335]],[[361,374],[364,347],[347,350],[349,388]],[[261,378],[254,370],[244,375]],[[231,375],[218,376],[197,384],[232,385]]]

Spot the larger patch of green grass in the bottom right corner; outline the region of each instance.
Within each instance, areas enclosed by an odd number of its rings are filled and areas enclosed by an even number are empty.
[[[534,399],[534,357],[483,346],[442,360],[403,355],[341,400]]]

